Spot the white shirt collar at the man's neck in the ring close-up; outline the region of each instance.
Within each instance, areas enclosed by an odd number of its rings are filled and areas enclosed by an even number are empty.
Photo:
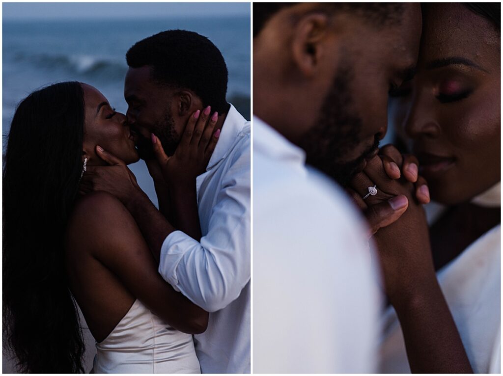
[[[253,127],[254,151],[257,150],[273,159],[305,164],[305,151],[288,141],[276,129],[257,116],[253,118]]]

